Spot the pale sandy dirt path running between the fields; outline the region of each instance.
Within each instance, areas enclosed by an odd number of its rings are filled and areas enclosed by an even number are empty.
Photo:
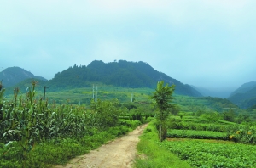
[[[128,168],[137,154],[137,143],[139,136],[148,124],[138,126],[129,134],[119,137],[100,148],[91,150],[89,154],[78,156],[71,160],[66,166],[57,165],[55,168]]]

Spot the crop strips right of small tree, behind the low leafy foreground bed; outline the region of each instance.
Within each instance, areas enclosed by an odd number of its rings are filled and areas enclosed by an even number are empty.
[[[168,137],[196,139],[230,140],[239,143],[256,144],[255,126],[235,123],[222,123],[220,120],[208,120],[208,123],[193,122],[172,118],[168,124]]]

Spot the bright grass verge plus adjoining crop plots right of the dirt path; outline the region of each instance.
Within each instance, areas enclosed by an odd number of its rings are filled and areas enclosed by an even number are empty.
[[[160,143],[155,139],[157,130],[154,122],[144,132],[142,142],[137,146],[139,154],[148,156],[138,157],[137,167],[256,166],[256,146],[253,143],[256,132],[253,127],[249,131],[230,131],[232,133],[168,129],[168,138]],[[160,149],[160,154],[155,152],[156,148]]]

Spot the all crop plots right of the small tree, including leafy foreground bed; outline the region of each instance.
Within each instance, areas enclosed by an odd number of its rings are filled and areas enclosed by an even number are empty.
[[[192,167],[256,167],[254,126],[172,117],[161,143]]]

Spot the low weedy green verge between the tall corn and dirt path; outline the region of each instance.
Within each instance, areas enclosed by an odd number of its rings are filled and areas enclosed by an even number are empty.
[[[138,121],[122,121],[119,126],[109,127],[105,131],[90,130],[90,134],[80,138],[58,138],[35,144],[28,153],[26,165],[22,165],[21,148],[18,143],[4,145],[0,143],[0,167],[52,167],[65,165],[71,158],[86,154],[107,143],[114,137],[130,132],[141,123]]]

